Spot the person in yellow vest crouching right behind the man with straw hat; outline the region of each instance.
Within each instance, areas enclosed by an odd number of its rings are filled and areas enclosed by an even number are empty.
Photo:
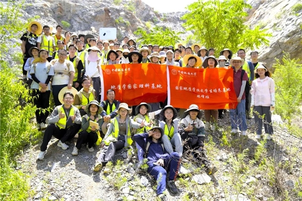
[[[86,115],[85,109],[92,100],[97,100],[96,90],[87,77],[82,80],[81,90],[74,96],[74,106],[80,110],[81,117]]]

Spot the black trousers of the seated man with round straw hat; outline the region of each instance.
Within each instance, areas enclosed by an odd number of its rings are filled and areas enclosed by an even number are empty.
[[[47,149],[48,142],[52,136],[59,139],[62,143],[65,143],[66,141],[70,141],[80,129],[81,124],[73,124],[67,129],[59,129],[57,125],[49,124],[45,130],[40,150],[45,151]]]

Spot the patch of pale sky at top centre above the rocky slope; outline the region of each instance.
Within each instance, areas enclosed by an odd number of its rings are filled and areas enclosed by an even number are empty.
[[[160,13],[186,11],[186,7],[196,0],[142,0]]]

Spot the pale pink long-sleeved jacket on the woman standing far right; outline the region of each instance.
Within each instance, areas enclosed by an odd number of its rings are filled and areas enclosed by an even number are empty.
[[[275,83],[272,78],[255,79],[251,93],[251,106],[275,106]]]

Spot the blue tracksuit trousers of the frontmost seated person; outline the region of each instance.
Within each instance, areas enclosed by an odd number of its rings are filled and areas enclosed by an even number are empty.
[[[149,166],[147,172],[152,175],[157,181],[157,194],[162,194],[166,189],[166,177],[167,171],[170,171],[169,181],[175,180],[180,167],[180,157],[177,152],[173,152],[169,155],[168,159],[164,160],[164,167],[155,165],[154,162],[148,161]]]

